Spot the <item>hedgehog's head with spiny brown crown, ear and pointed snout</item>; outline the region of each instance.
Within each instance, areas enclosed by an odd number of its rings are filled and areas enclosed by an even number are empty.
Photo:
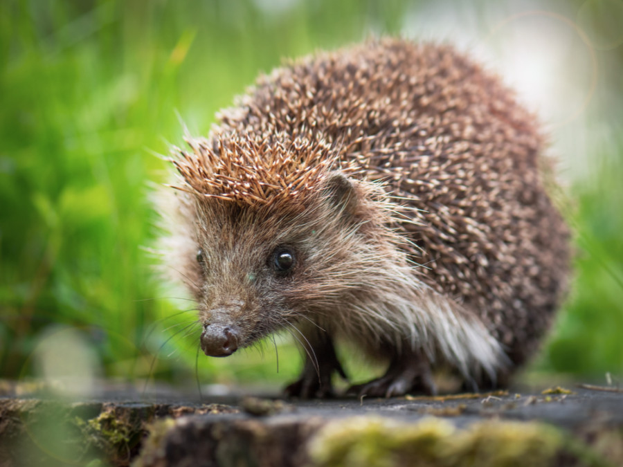
[[[301,319],[339,323],[339,306],[397,263],[381,185],[306,138],[213,142],[190,140],[192,152],[173,161],[192,217],[181,269],[199,304],[201,348],[227,356]]]

